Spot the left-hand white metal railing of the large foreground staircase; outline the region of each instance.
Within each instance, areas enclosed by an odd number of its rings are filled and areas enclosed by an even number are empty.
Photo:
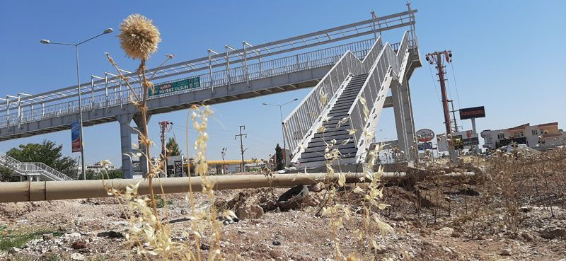
[[[301,100],[301,103],[285,118],[282,122],[285,141],[293,155],[300,151],[299,144],[316,129],[313,129],[320,120],[326,104],[320,103],[323,95],[326,95],[327,101],[333,98],[338,88],[347,79],[350,74],[357,75],[365,72],[364,64],[371,61],[377,56],[382,48],[381,37],[378,37],[374,44],[367,52],[363,61],[356,57],[352,52],[347,51],[336,64],[328,71],[318,84]],[[371,64],[371,63],[370,63]]]

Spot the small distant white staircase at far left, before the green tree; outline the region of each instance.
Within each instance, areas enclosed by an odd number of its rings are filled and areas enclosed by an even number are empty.
[[[33,180],[73,180],[67,175],[60,173],[58,170],[47,166],[40,162],[21,162],[0,152],[0,165],[11,170],[12,175],[26,176]]]

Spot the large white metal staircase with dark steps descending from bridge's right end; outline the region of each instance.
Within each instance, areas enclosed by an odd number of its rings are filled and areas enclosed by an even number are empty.
[[[332,143],[330,149],[338,149],[341,164],[366,161],[386,98],[391,98],[395,110],[410,105],[408,94],[399,90],[408,88],[412,62],[420,66],[414,31],[405,32],[402,42],[394,46],[382,45],[379,37],[363,61],[346,52],[283,122],[293,152],[291,163],[301,168],[325,166],[325,150]],[[387,97],[390,88],[393,97]],[[327,104],[326,97],[330,97]],[[397,127],[406,134],[403,124]]]

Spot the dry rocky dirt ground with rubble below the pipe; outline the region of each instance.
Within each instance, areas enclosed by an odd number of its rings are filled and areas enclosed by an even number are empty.
[[[558,175],[565,175],[564,170]],[[514,182],[527,184],[529,178]],[[376,233],[378,248],[367,246],[371,248],[367,253],[376,260],[566,260],[564,190],[547,187],[548,193],[543,193],[542,185],[536,191],[531,183],[524,185],[524,191],[515,194],[520,219],[512,222],[506,214],[509,209],[490,209],[494,201],[506,206],[504,199],[490,196],[492,183],[424,180],[387,185],[383,200],[391,206],[380,215],[394,233]],[[339,201],[354,213],[337,232],[344,253],[358,244],[353,235],[362,219],[353,187],[337,192]],[[238,195],[278,197],[286,190],[221,191],[216,200],[227,202]],[[310,193],[323,199],[324,192]],[[212,204],[199,193],[195,199],[203,207]],[[168,200],[172,204],[159,209],[160,216],[168,217],[173,241],[186,241],[183,231],[191,230],[190,206],[185,195],[166,195]],[[0,239],[32,235],[21,248],[0,250],[0,260],[154,260],[138,255],[123,237],[127,220],[121,208],[112,198],[0,204]],[[335,260],[330,220],[317,215],[319,209],[307,205],[290,211],[275,209],[258,219],[226,224],[221,228],[222,253],[226,260]],[[207,238],[200,246],[205,256],[206,242]]]

